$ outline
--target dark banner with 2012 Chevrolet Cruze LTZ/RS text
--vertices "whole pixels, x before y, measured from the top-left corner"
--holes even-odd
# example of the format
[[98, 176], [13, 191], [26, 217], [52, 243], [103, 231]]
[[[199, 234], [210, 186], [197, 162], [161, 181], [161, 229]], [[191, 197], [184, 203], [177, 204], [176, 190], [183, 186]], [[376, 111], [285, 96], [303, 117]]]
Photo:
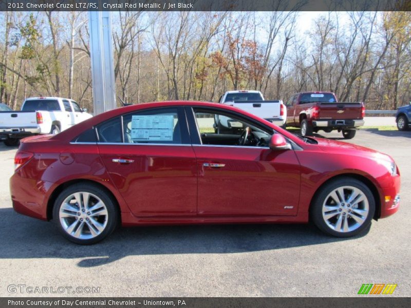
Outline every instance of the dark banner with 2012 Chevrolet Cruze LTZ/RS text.
[[411, 0], [3, 0], [1, 11], [410, 11]]

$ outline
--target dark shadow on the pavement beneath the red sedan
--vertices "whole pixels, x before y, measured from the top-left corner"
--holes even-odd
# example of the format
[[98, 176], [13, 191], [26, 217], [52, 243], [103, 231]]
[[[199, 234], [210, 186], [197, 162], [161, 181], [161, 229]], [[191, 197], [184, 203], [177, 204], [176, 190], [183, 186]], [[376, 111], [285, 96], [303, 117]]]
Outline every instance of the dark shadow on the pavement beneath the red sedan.
[[102, 242], [82, 246], [64, 239], [52, 222], [0, 209], [1, 259], [81, 259], [99, 266], [127, 256], [233, 254], [354, 240], [321, 233], [311, 224], [231, 224], [118, 228]]

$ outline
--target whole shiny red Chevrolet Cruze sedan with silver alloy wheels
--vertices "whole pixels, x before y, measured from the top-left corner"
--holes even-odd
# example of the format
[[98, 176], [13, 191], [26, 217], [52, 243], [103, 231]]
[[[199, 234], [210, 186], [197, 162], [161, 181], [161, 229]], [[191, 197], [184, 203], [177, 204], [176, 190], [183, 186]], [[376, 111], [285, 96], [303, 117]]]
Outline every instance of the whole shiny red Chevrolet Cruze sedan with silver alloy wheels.
[[[216, 121], [227, 117], [229, 130]], [[298, 137], [230, 106], [161, 102], [22, 141], [14, 209], [96, 243], [123, 226], [304, 223], [349, 237], [399, 206], [399, 170], [356, 145]]]

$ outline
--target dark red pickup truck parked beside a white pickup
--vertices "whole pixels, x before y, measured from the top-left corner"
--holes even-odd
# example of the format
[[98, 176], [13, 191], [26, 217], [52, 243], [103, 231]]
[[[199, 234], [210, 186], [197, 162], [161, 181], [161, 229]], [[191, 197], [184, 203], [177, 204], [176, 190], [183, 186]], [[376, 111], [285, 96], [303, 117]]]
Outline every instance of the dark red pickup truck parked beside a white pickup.
[[337, 129], [345, 139], [351, 139], [357, 127], [364, 125], [364, 104], [338, 102], [332, 92], [295, 93], [286, 106], [286, 125], [300, 127], [303, 136]]

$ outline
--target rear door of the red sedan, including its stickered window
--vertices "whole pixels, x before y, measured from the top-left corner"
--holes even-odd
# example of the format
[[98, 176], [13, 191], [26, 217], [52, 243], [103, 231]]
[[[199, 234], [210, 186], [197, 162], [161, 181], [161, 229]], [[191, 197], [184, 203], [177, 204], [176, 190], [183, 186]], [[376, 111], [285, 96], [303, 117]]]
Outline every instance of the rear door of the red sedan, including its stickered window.
[[97, 131], [110, 179], [135, 216], [196, 216], [197, 166], [183, 108], [128, 113]]

